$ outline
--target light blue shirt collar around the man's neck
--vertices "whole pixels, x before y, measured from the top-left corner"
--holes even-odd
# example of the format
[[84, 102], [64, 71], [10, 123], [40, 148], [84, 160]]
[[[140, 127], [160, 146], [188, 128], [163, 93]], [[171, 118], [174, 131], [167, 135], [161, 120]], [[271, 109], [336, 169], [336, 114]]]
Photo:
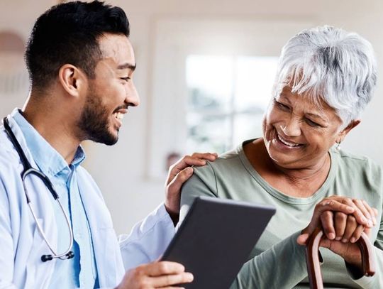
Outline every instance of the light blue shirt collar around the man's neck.
[[[41, 136], [40, 133], [28, 123], [19, 109], [15, 109], [11, 116], [23, 132], [23, 136], [26, 139], [26, 145], [33, 156], [33, 160], [35, 160], [38, 168], [40, 168], [45, 175], [54, 176], [57, 175], [57, 173], [60, 173], [61, 170], [68, 168], [65, 159], [62, 158], [60, 153], [50, 146], [50, 143], [45, 141], [45, 138], [43, 138], [43, 136]], [[84, 159], [84, 150], [79, 146], [74, 155], [72, 165], [77, 168]]]

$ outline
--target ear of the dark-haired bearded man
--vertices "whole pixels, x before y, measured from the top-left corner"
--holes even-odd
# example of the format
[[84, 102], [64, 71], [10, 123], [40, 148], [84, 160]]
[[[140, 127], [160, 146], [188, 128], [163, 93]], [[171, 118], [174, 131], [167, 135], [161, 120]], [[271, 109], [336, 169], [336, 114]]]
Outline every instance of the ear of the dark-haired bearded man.
[[58, 77], [62, 88], [73, 97], [78, 97], [87, 83], [87, 77], [84, 75], [84, 72], [70, 64], [60, 67]]

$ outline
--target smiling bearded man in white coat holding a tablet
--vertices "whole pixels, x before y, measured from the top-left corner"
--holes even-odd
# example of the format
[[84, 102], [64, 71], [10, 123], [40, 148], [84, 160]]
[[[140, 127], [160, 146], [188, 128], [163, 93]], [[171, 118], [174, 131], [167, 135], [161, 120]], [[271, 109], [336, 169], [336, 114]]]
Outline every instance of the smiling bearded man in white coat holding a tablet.
[[80, 143], [116, 143], [123, 115], [139, 104], [128, 36], [126, 14], [98, 1], [60, 4], [36, 21], [26, 48], [30, 96], [0, 127], [0, 288], [191, 282], [182, 265], [154, 260], [174, 234], [189, 165], [216, 155], [187, 156], [170, 169], [165, 205], [121, 242], [124, 260], [101, 193], [80, 165]]

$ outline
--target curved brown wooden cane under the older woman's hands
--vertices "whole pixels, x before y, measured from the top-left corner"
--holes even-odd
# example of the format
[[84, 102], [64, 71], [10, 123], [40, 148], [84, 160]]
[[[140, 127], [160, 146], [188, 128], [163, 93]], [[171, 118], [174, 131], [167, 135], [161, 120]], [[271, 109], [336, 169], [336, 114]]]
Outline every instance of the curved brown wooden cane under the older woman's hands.
[[[323, 279], [321, 266], [319, 262], [319, 243], [321, 242], [323, 231], [316, 228], [309, 237], [306, 244], [306, 263], [307, 273], [309, 273], [309, 281], [311, 289], [323, 289]], [[373, 276], [375, 273], [374, 251], [370, 239], [365, 233], [357, 240], [357, 245], [362, 254], [362, 266], [365, 276]]]

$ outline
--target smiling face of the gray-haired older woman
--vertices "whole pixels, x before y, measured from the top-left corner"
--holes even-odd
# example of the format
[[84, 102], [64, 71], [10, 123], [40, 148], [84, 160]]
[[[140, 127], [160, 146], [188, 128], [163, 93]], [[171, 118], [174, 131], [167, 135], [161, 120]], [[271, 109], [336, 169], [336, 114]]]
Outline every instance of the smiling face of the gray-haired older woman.
[[274, 163], [282, 168], [311, 168], [321, 164], [335, 141], [345, 136], [342, 121], [325, 102], [321, 107], [309, 97], [284, 87], [267, 110], [263, 136]]

